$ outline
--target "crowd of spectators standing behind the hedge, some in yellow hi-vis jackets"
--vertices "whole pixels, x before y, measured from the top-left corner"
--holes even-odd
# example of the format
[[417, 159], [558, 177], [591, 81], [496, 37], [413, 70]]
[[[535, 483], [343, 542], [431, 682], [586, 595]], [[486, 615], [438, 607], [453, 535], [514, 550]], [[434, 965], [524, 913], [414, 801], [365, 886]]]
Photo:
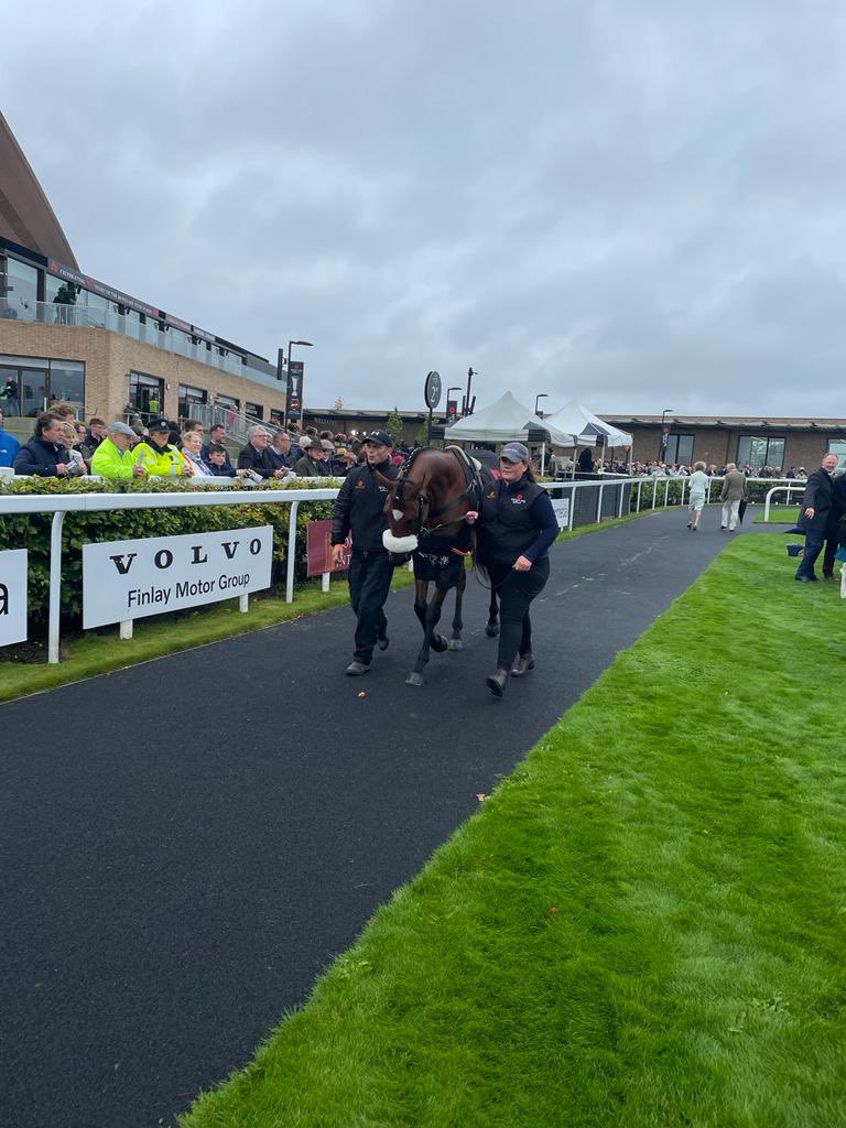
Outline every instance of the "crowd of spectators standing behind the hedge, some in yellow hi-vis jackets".
[[[235, 464], [230, 446], [221, 424], [213, 425], [208, 435], [196, 420], [186, 420], [179, 426], [164, 416], [146, 425], [138, 418], [132, 423], [106, 423], [95, 416], [86, 426], [77, 420], [71, 405], [61, 403], [36, 418], [35, 433], [21, 444], [5, 430], [0, 408], [0, 467], [12, 467], [15, 474], [21, 475], [150, 475], [258, 483], [268, 478], [344, 477], [367, 460], [359, 440], [311, 426], [284, 430], [256, 424], [247, 431], [247, 441]], [[408, 450], [399, 444], [395, 460], [402, 462]]]

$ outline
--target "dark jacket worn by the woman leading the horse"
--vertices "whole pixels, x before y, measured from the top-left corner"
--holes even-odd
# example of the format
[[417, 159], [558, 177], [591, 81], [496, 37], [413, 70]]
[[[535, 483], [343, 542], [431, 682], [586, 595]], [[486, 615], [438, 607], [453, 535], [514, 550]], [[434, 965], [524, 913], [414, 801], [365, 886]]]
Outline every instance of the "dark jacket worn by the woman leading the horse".
[[527, 477], [485, 485], [479, 549], [487, 567], [509, 569], [518, 556], [540, 559], [557, 536], [558, 521], [543, 486]]

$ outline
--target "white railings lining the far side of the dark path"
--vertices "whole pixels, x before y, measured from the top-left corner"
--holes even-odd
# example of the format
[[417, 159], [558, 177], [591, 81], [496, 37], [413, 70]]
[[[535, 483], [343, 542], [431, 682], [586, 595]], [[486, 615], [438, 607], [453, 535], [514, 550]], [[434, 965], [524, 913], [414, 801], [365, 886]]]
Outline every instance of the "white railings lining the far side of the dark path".
[[[195, 479], [197, 482], [208, 483], [208, 478]], [[717, 478], [712, 478], [708, 486], [708, 501], [711, 501], [711, 485], [716, 483]], [[763, 481], [763, 479], [757, 479]], [[591, 523], [591, 521], [601, 522], [602, 520], [610, 520], [614, 517], [623, 517], [624, 513], [628, 513], [631, 510], [640, 512], [641, 500], [643, 494], [644, 484], [651, 483], [653, 488], [652, 494], [652, 505], [651, 509], [658, 506], [658, 499], [660, 494], [660, 486], [663, 484], [663, 502], [662, 508], [667, 506], [670, 499], [670, 486], [673, 482], [681, 485], [681, 499], [680, 504], [685, 504], [685, 491], [687, 486], [686, 478], [658, 478], [658, 477], [643, 477], [643, 478], [619, 478], [619, 477], [608, 477], [608, 478], [596, 478], [588, 482], [579, 481], [564, 481], [564, 482], [548, 482], [545, 483], [545, 487], [549, 491], [553, 496], [556, 494], [564, 494], [570, 499], [569, 517], [567, 517], [567, 528], [573, 529], [575, 517], [576, 517], [576, 500], [579, 499], [580, 492], [593, 490], [596, 491], [597, 502], [596, 510], [593, 514], [587, 511], [585, 506], [582, 505], [580, 511], [579, 525]], [[222, 483], [217, 483], [222, 485]], [[637, 493], [634, 499], [634, 504], [632, 504], [632, 491], [637, 487]], [[766, 506], [765, 506], [765, 520], [769, 514], [769, 504], [773, 494], [778, 490], [800, 490], [804, 487], [804, 483], [779, 483], [775, 485], [767, 494]], [[614, 511], [610, 513], [603, 513], [603, 500], [607, 497], [611, 491], [616, 491], [616, 496], [614, 500]], [[296, 576], [296, 563], [297, 563], [297, 513], [301, 502], [309, 501], [332, 501], [338, 494], [337, 488], [334, 487], [311, 487], [305, 486], [302, 490], [261, 490], [258, 487], [252, 488], [249, 491], [235, 491], [230, 492], [227, 490], [221, 490], [221, 492], [214, 491], [202, 491], [197, 493], [166, 493], [166, 494], [155, 494], [155, 493], [125, 493], [125, 494], [0, 494], [0, 515], [3, 514], [20, 514], [20, 513], [52, 513], [53, 522], [51, 528], [50, 538], [50, 608], [49, 608], [49, 643], [47, 643], [47, 661], [55, 663], [59, 661], [59, 618], [60, 618], [60, 606], [61, 606], [61, 584], [62, 584], [62, 526], [64, 523], [65, 513], [94, 513], [94, 512], [113, 512], [120, 510], [132, 510], [132, 509], [188, 509], [188, 508], [203, 508], [206, 505], [255, 505], [258, 504], [272, 504], [272, 505], [290, 505], [289, 523], [288, 523], [288, 555], [287, 555], [287, 573], [285, 573], [285, 600], [290, 603], [293, 601], [293, 589], [294, 589], [294, 576]], [[592, 508], [592, 506], [591, 506]], [[582, 520], [587, 518], [587, 520]], [[324, 583], [324, 590], [327, 590], [327, 585]], [[246, 610], [245, 601], [248, 599], [247, 596], [240, 597], [241, 609]], [[129, 625], [131, 620], [127, 620], [127, 625], [122, 624], [121, 636], [131, 636], [131, 626]]]

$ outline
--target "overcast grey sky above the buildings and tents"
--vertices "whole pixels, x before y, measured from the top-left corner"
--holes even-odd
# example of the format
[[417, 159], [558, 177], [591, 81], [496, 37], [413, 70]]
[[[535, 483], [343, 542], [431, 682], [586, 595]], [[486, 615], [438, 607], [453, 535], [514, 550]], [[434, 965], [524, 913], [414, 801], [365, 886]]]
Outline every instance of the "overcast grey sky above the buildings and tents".
[[0, 91], [82, 270], [307, 406], [844, 415], [844, 12], [16, 5]]

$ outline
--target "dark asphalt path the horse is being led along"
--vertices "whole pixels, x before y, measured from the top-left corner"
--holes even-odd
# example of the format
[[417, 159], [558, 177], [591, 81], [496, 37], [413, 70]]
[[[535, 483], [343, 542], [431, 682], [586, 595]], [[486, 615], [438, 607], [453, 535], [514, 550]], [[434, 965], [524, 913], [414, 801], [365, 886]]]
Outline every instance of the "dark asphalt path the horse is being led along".
[[[502, 700], [411, 589], [364, 678], [347, 607], [0, 706], [0, 1125], [171, 1125], [726, 544], [676, 510], [555, 547]], [[451, 616], [451, 597], [448, 601]], [[127, 643], [127, 647], [131, 643]]]

